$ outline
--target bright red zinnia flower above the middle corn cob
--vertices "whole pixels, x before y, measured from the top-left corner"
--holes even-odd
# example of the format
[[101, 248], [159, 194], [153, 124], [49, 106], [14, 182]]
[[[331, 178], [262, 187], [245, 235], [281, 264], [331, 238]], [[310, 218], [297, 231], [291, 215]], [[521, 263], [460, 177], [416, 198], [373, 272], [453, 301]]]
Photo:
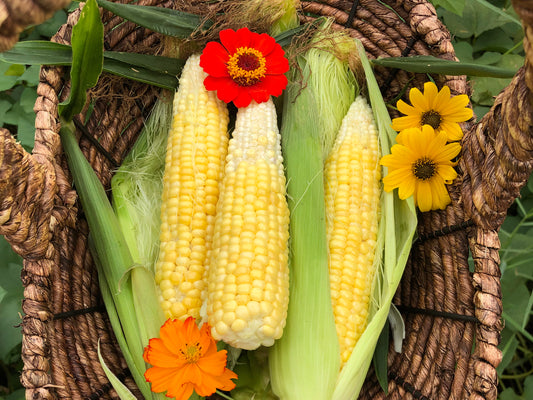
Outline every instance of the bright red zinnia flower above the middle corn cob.
[[207, 90], [216, 90], [220, 100], [246, 107], [279, 96], [287, 86], [289, 62], [273, 37], [248, 28], [220, 32], [220, 42], [209, 42], [200, 57], [208, 74]]

